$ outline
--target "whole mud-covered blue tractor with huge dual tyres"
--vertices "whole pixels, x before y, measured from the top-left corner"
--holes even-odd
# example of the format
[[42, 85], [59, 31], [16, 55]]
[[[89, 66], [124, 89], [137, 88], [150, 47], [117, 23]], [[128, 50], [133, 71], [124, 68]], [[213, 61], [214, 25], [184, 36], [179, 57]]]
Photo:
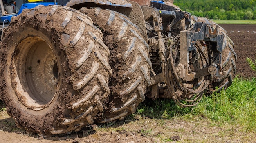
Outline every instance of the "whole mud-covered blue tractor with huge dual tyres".
[[0, 99], [19, 128], [42, 137], [123, 120], [145, 98], [195, 106], [236, 73], [227, 32], [173, 0], [0, 5]]

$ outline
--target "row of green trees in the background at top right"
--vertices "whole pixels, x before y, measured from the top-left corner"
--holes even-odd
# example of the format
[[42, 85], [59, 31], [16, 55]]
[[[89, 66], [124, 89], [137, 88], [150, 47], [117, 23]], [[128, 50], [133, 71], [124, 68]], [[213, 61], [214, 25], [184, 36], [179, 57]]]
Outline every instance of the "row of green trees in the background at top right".
[[220, 20], [256, 20], [256, 0], [174, 0], [192, 15]]

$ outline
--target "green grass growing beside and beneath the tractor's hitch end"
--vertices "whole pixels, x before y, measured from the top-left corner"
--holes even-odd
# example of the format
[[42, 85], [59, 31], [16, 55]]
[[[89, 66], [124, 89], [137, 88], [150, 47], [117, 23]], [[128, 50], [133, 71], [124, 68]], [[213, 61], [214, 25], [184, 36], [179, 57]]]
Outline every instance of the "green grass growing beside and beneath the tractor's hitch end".
[[236, 77], [227, 90], [204, 96], [192, 108], [180, 108], [172, 100], [157, 99], [139, 106], [137, 113], [156, 119], [207, 118], [212, 124], [237, 125], [245, 132], [256, 132], [256, 78]]

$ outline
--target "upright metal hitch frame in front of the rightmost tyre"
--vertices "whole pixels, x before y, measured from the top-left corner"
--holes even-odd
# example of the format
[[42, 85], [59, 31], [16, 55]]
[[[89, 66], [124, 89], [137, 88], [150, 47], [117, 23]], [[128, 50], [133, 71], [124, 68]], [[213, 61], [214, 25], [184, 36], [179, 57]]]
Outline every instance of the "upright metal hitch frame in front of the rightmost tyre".
[[[186, 81], [192, 81], [196, 78], [195, 72], [189, 71], [189, 52], [196, 49], [196, 41], [206, 41], [207, 48], [213, 52], [222, 53], [222, 43], [224, 40], [224, 35], [218, 34], [219, 26], [213, 28], [213, 24], [196, 22], [192, 30], [184, 30], [180, 32], [180, 61], [178, 62], [177, 69], [180, 72], [180, 78]], [[220, 57], [221, 58], [221, 57]], [[206, 70], [209, 74], [217, 74], [216, 65], [221, 63], [213, 63]], [[213, 69], [215, 72], [213, 72]], [[202, 72], [202, 71], [201, 71]], [[201, 73], [200, 71], [198, 73]]]

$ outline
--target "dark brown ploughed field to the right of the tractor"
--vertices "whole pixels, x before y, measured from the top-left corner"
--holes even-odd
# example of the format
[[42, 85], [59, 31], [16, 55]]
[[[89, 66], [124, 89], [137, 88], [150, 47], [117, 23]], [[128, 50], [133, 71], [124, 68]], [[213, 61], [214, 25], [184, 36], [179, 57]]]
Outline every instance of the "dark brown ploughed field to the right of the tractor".
[[248, 65], [246, 58], [252, 58], [253, 61], [256, 58], [256, 25], [220, 24], [220, 26], [227, 31], [234, 42], [234, 50], [237, 54], [236, 74], [242, 78], [255, 77], [256, 73]]

